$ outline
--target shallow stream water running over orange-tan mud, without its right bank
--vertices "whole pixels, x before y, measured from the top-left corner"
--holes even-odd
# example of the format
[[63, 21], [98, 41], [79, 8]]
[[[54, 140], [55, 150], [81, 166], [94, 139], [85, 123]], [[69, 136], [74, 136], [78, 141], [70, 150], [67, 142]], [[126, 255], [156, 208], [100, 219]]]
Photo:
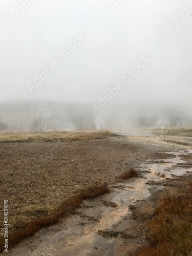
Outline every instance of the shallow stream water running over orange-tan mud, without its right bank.
[[[38, 232], [35, 237], [20, 243], [7, 254], [20, 256], [114, 255], [116, 238], [125, 231], [121, 221], [132, 213], [129, 206], [133, 207], [137, 200], [149, 197], [152, 187], [162, 189], [161, 185], [156, 184], [158, 181], [173, 178], [175, 175], [181, 176], [191, 171], [192, 168], [174, 166], [184, 163], [180, 155], [188, 153], [192, 153], [192, 150], [167, 153], [175, 154], [176, 157], [158, 159], [158, 163], [143, 162], [138, 169], [142, 178], [115, 184], [112, 186], [112, 193], [92, 201], [84, 201], [75, 215], [63, 219], [63, 223]], [[114, 231], [115, 226], [118, 226], [118, 231]]]

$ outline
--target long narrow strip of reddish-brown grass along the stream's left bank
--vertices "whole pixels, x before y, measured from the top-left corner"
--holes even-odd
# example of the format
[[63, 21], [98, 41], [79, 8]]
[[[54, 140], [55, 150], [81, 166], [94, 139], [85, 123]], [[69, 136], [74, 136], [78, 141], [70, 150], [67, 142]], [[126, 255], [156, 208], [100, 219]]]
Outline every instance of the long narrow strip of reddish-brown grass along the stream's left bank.
[[[56, 210], [54, 210], [51, 216], [34, 219], [26, 223], [23, 228], [19, 228], [8, 234], [9, 248], [16, 245], [18, 242], [33, 236], [41, 228], [45, 228], [56, 224], [62, 217], [74, 214], [76, 208], [82, 204], [84, 199], [91, 199], [97, 196], [101, 196], [105, 193], [109, 193], [109, 188], [106, 184], [89, 186], [81, 191], [78, 196], [71, 197], [61, 203]], [[0, 252], [4, 250], [4, 236], [0, 237]]]

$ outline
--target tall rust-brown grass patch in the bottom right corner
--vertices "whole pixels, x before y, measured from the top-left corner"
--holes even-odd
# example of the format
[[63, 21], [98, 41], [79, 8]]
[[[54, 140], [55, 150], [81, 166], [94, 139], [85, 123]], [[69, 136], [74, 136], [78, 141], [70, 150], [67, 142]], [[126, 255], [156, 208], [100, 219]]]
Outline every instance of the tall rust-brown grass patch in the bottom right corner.
[[192, 183], [185, 195], [164, 198], [148, 223], [150, 247], [136, 255], [192, 255]]

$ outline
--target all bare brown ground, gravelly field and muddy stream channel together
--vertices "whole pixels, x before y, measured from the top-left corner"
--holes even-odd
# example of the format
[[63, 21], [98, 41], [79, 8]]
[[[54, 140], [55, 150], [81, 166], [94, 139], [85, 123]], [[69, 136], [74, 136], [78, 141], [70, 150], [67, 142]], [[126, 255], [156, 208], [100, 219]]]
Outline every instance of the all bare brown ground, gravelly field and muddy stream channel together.
[[[153, 215], [160, 189], [177, 193], [191, 179], [191, 142], [192, 138], [159, 135], [1, 143], [1, 198], [9, 201], [12, 229], [20, 225], [17, 220], [34, 218], [34, 213], [39, 214], [36, 218], [49, 214], [84, 186], [106, 182], [111, 188], [110, 194], [85, 201], [76, 215], [40, 231], [9, 254], [131, 255], [147, 244], [145, 223]], [[172, 154], [162, 154], [166, 152]], [[141, 177], [117, 184], [116, 176], [131, 167]], [[170, 182], [185, 173], [187, 178]], [[35, 211], [39, 207], [47, 210]]]

